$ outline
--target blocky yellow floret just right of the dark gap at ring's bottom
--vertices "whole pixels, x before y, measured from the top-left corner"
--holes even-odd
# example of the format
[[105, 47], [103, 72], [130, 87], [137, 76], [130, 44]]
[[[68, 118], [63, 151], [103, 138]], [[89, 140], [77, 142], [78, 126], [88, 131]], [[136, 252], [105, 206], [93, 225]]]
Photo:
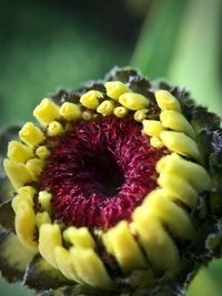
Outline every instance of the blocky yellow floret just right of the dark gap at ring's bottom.
[[111, 244], [113, 255], [124, 273], [148, 266], [127, 222], [122, 221], [109, 229], [107, 236]]

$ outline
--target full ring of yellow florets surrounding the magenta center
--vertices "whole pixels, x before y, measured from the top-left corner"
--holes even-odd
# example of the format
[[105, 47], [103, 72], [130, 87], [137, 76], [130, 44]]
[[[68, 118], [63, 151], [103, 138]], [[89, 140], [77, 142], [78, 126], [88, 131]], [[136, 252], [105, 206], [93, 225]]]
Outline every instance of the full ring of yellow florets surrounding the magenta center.
[[[148, 98], [132, 92], [120, 81], [105, 82], [104, 86], [105, 93], [90, 90], [82, 94], [80, 104], [64, 102], [59, 106], [50, 99], [43, 99], [33, 111], [42, 127], [31, 122], [23, 125], [19, 132], [21, 141], [9, 143], [4, 170], [17, 192], [12, 208], [20, 242], [33, 253], [39, 252], [67, 278], [112, 288], [112, 278], [97, 252], [90, 231], [74, 226], [64, 228], [53, 223], [52, 194], [36, 188], [34, 184], [51, 153], [46, 139], [61, 136], [70, 123], [90, 120], [94, 114], [113, 114], [122, 119], [131, 112], [134, 120], [141, 122], [144, 136], [151, 137], [151, 145], [155, 149], [165, 146], [170, 151], [157, 164], [159, 187], [144, 197], [132, 214], [132, 222], [121, 221], [107, 232], [98, 229], [94, 233], [123, 274], [145, 269], [150, 265], [154, 273], [173, 275], [178, 272], [180, 254], [170, 233], [188, 241], [195, 235], [192, 220], [178, 201], [194, 210], [199, 193], [210, 190], [211, 178], [202, 166], [195, 132], [182, 114], [176, 98], [168, 91], [157, 91], [160, 119], [147, 120]], [[40, 205], [38, 212], [34, 198]]]

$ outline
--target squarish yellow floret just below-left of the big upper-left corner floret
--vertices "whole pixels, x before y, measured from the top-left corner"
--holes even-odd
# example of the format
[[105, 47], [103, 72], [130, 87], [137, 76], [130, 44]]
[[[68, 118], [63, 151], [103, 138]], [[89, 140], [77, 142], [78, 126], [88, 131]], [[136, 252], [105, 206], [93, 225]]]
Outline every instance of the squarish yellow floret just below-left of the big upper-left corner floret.
[[44, 134], [32, 122], [27, 122], [19, 132], [21, 141], [29, 146], [38, 146], [44, 141]]

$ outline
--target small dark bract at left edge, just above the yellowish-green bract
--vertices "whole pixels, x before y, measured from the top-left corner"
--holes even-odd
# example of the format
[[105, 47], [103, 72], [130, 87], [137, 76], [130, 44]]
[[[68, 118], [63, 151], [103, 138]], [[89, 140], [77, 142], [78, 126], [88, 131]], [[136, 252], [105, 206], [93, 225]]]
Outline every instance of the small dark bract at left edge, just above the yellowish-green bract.
[[14, 231], [14, 212], [11, 207], [11, 201], [6, 201], [0, 205], [0, 226], [9, 232]]

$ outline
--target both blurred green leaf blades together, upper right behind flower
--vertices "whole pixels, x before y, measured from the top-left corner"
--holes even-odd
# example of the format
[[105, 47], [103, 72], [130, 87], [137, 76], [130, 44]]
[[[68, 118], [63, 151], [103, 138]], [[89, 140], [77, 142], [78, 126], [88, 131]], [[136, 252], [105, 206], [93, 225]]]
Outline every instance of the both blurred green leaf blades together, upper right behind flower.
[[221, 0], [152, 0], [131, 64], [222, 115]]

